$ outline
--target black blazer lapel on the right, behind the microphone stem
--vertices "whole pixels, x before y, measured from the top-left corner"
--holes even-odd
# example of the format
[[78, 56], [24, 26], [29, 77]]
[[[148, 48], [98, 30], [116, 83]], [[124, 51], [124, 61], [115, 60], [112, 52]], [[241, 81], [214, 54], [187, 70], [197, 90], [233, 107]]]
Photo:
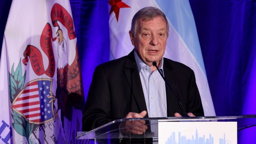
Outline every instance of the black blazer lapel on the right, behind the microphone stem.
[[[175, 83], [175, 82], [178, 82], [178, 79], [175, 76], [175, 73], [173, 72], [173, 67], [171, 66], [170, 63], [168, 63], [168, 61], [165, 60], [165, 58], [164, 58], [164, 77], [166, 78], [166, 81], [169, 83], [175, 95], [178, 97], [178, 93], [177, 93], [178, 83]], [[178, 107], [175, 96], [168, 89], [167, 85], [165, 85], [165, 87], [166, 87], [167, 116], [173, 117], [174, 113], [179, 112], [179, 107]]]

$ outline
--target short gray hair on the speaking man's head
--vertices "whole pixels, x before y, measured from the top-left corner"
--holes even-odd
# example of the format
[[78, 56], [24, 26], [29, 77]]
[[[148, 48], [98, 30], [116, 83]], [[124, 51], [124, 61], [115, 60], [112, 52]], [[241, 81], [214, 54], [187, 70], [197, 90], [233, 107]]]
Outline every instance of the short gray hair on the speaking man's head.
[[143, 9], [140, 9], [134, 16], [132, 20], [132, 26], [130, 30], [132, 33], [135, 35], [136, 33], [136, 26], [137, 26], [137, 21], [149, 21], [154, 19], [155, 17], [162, 17], [166, 23], [166, 28], [167, 28], [167, 36], [169, 35], [169, 24], [168, 20], [166, 19], [166, 16], [164, 12], [162, 12], [160, 9], [156, 7], [144, 7]]

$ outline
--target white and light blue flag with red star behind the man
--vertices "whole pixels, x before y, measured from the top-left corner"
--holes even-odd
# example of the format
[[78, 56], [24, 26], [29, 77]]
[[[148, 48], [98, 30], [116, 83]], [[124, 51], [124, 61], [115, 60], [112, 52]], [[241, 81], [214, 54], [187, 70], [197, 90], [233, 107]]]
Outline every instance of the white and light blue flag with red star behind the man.
[[205, 116], [215, 116], [194, 17], [188, 0], [109, 0], [110, 59], [131, 52], [128, 31], [134, 14], [157, 7], [168, 19], [169, 36], [164, 57], [189, 66], [195, 73]]

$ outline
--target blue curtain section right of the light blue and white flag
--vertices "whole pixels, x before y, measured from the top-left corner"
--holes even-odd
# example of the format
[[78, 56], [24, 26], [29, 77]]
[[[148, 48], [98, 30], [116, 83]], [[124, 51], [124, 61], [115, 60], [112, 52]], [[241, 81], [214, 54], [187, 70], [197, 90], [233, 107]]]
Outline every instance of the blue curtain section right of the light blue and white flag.
[[[216, 116], [256, 114], [256, 1], [190, 0], [190, 5]], [[256, 143], [255, 134], [256, 127], [237, 132], [238, 143]]]

